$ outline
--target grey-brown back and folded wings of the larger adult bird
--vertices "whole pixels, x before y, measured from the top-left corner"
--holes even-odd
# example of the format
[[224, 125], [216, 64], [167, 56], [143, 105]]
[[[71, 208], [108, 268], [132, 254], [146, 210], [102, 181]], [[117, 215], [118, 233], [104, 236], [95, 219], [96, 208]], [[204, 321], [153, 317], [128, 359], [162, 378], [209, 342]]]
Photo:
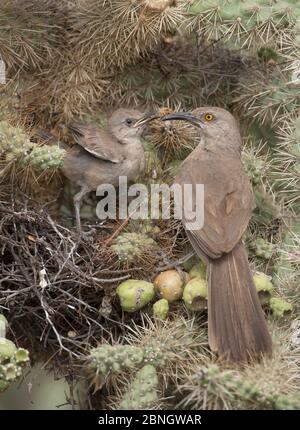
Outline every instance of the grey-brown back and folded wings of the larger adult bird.
[[[175, 183], [192, 184], [193, 210], [195, 185], [204, 185], [204, 225], [187, 230], [187, 234], [199, 256], [219, 258], [240, 241], [255, 207], [254, 197], [240, 159], [224, 154], [206, 155], [205, 151], [202, 155], [185, 160]], [[185, 227], [188, 222], [183, 216]]]

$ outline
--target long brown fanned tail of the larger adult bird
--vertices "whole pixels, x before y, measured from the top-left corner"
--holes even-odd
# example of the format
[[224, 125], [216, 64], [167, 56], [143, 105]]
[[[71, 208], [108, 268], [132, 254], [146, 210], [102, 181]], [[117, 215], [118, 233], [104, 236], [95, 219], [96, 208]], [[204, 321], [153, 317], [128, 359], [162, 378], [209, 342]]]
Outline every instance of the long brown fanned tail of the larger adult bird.
[[233, 362], [271, 355], [272, 341], [242, 243], [210, 260], [209, 344]]

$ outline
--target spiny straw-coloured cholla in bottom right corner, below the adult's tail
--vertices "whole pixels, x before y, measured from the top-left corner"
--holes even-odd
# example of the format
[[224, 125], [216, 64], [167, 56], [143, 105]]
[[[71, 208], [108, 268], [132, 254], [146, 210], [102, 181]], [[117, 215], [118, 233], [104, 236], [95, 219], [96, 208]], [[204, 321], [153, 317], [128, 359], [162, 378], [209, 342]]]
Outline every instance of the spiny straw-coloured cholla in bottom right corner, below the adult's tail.
[[[224, 363], [196, 365], [178, 387], [179, 407], [202, 409], [298, 409], [299, 350], [295, 329], [272, 329], [269, 359], [228, 368]], [[294, 343], [295, 340], [295, 343]], [[295, 347], [296, 346], [296, 347]]]

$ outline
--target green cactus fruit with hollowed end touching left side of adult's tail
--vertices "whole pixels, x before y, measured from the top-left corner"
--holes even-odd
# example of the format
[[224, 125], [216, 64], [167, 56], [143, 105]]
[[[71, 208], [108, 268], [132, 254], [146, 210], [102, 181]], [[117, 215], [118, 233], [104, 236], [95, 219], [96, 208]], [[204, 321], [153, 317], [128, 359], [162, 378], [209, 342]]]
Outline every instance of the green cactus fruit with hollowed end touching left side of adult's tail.
[[200, 311], [207, 308], [207, 281], [201, 278], [191, 279], [183, 290], [183, 301], [186, 307], [192, 311]]

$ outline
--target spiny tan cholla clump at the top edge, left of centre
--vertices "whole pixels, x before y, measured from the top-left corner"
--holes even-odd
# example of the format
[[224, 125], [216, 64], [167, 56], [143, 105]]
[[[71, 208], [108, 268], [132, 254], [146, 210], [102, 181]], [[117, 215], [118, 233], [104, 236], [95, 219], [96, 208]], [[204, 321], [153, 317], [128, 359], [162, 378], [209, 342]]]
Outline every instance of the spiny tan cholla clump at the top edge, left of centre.
[[106, 72], [132, 63], [184, 20], [187, 1], [87, 0], [70, 14], [80, 58]]

